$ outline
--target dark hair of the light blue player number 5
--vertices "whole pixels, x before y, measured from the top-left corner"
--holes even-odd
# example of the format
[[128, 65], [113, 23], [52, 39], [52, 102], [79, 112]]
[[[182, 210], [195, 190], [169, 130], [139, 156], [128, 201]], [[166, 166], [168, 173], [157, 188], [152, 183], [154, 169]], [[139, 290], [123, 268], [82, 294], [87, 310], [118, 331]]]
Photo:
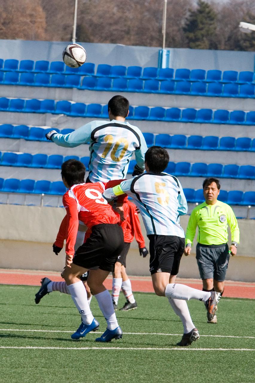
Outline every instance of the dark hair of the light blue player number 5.
[[144, 161], [150, 172], [162, 173], [168, 165], [169, 155], [161, 146], [151, 146], [145, 153]]

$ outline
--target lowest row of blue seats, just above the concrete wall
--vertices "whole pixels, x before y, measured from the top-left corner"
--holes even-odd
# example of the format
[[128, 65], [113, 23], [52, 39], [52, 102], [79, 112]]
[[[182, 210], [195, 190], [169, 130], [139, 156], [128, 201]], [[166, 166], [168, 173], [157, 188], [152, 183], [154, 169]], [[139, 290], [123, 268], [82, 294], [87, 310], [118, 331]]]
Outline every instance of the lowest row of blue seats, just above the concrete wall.
[[[0, 178], [0, 191], [7, 193], [34, 193], [34, 194], [50, 194], [63, 195], [66, 188], [62, 181], [50, 182], [47, 180], [19, 180], [17, 178]], [[194, 190], [191, 188], [183, 189], [187, 202], [202, 203], [204, 201], [203, 189]], [[230, 205], [255, 205], [255, 191], [232, 190], [227, 192], [221, 190], [219, 201], [226, 202]]]

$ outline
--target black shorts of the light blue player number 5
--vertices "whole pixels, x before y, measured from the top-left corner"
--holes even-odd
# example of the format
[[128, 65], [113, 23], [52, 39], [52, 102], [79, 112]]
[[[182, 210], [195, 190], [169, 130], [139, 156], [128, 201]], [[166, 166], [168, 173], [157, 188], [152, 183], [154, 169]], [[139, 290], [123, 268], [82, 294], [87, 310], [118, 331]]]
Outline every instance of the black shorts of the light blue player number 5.
[[181, 256], [185, 247], [185, 238], [149, 234], [150, 273], [170, 273], [177, 275]]

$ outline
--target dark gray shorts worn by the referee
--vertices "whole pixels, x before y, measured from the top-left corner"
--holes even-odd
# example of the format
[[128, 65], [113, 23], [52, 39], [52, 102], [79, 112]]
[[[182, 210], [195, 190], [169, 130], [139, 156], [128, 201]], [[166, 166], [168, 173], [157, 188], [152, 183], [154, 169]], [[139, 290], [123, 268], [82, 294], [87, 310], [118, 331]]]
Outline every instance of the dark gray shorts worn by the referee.
[[223, 245], [196, 245], [196, 261], [201, 279], [213, 278], [223, 282], [229, 265], [229, 247]]

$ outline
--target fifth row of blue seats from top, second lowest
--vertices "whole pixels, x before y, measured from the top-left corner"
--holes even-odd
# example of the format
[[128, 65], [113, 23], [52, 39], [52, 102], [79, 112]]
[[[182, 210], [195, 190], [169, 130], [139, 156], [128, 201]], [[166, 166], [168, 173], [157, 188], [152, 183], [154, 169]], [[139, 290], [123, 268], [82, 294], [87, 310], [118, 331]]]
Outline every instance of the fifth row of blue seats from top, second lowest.
[[[88, 169], [90, 157], [78, 156], [63, 156], [60, 154], [30, 154], [30, 153], [12, 153], [4, 152], [1, 154], [0, 165], [3, 166], [19, 166], [19, 167], [34, 167], [46, 169], [60, 169], [64, 161], [75, 158], [83, 162]], [[128, 173], [131, 174], [134, 169], [136, 160], [131, 160], [128, 168]], [[255, 166], [252, 165], [222, 165], [222, 164], [206, 164], [204, 162], [169, 162], [167, 173], [176, 176], [188, 177], [223, 177], [223, 178], [238, 178], [255, 180]]]

